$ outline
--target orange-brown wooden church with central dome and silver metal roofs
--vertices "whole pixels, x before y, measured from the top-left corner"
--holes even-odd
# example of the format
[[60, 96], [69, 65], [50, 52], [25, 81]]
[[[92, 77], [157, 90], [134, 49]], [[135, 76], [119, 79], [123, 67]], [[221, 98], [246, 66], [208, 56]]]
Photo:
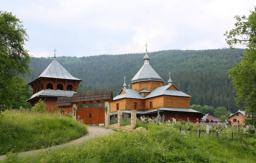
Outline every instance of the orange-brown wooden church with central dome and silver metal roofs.
[[[165, 116], [166, 120], [175, 118], [177, 121], [196, 122], [204, 114], [190, 109], [190, 97], [181, 92], [172, 84], [171, 73], [169, 72], [168, 85], [163, 86], [163, 79], [149, 64], [149, 56], [146, 54], [143, 58], [144, 65], [137, 74], [131, 79], [131, 86], [124, 81], [123, 88], [118, 96], [111, 102], [111, 116], [116, 115], [118, 110], [124, 110], [124, 113], [131, 113], [131, 110], [137, 110], [137, 117], [145, 115], [148, 117], [157, 117], [157, 110], [160, 115]], [[125, 78], [124, 78], [125, 79]]]

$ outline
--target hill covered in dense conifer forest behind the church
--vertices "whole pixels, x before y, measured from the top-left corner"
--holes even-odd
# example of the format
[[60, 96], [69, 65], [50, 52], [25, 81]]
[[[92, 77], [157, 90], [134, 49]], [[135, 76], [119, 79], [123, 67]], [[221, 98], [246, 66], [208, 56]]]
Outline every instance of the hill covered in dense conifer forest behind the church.
[[[227, 70], [241, 60], [244, 49], [214, 50], [169, 50], [148, 53], [150, 65], [167, 84], [169, 71], [173, 84], [182, 92], [192, 96], [190, 104], [224, 106], [234, 112], [238, 110], [233, 97], [233, 87], [228, 79]], [[57, 54], [58, 55], [58, 54]], [[145, 53], [120, 55], [99, 55], [87, 57], [57, 57], [73, 76], [82, 79], [83, 89], [112, 90], [116, 96], [123, 85], [131, 84], [131, 79], [143, 65]], [[36, 79], [52, 62], [53, 57], [33, 58], [30, 68]]]

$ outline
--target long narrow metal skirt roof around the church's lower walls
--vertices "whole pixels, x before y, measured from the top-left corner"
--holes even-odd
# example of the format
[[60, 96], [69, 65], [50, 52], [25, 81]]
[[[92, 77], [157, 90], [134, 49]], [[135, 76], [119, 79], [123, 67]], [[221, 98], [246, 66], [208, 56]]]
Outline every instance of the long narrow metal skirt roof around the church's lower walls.
[[[162, 107], [159, 108], [159, 111], [163, 112], [163, 111], [176, 111], [176, 112], [197, 112], [197, 113], [201, 113], [198, 112], [197, 110], [193, 110], [193, 109], [188, 109], [188, 108], [176, 108], [176, 107]], [[136, 111], [136, 114], [138, 115], [143, 115], [143, 114], [149, 114], [152, 112], [157, 112], [157, 109], [153, 109], [153, 110], [145, 110], [145, 111]], [[124, 110], [123, 113], [131, 113], [131, 110]], [[109, 115], [116, 115], [117, 112], [111, 112]], [[201, 113], [202, 115], [204, 115], [203, 113]]]

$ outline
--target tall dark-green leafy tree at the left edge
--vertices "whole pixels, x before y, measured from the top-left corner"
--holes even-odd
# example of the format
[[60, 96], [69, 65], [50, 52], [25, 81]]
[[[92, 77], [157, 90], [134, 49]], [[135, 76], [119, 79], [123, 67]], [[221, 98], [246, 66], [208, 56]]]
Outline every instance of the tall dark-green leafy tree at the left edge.
[[[17, 101], [12, 101], [15, 99], [10, 97], [11, 92], [15, 92], [12, 86], [20, 83], [17, 83], [17, 80], [21, 80], [17, 76], [30, 74], [30, 57], [24, 49], [26, 41], [28, 35], [22, 22], [12, 13], [0, 11], [0, 105], [15, 105], [13, 103]], [[23, 92], [20, 93], [15, 95], [22, 96]]]

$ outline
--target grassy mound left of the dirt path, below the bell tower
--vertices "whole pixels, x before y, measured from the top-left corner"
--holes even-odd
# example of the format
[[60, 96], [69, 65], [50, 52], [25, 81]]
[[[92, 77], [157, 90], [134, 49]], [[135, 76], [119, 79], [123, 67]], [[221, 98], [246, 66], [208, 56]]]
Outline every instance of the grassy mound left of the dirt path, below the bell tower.
[[86, 133], [86, 126], [59, 114], [6, 111], [0, 118], [0, 155], [66, 143]]

